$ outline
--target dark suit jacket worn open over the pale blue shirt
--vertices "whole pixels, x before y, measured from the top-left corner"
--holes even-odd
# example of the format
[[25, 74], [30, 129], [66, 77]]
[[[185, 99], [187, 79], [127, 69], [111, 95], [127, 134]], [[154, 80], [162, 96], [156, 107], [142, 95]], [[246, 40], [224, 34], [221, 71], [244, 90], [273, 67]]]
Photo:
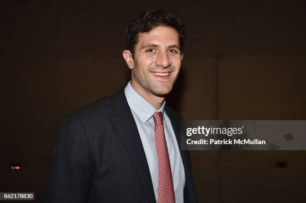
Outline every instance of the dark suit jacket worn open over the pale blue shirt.
[[[165, 106], [176, 139], [181, 117]], [[195, 192], [188, 151], [184, 199]], [[45, 203], [155, 203], [149, 168], [124, 94], [99, 100], [65, 118], [57, 129], [44, 193]]]

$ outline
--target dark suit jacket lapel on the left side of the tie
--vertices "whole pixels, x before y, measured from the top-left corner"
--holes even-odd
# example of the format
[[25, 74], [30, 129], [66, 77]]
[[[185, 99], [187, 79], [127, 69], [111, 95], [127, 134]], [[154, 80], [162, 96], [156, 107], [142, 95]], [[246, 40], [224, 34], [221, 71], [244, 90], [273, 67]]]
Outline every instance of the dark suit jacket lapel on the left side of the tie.
[[150, 171], [136, 123], [126, 101], [124, 88], [113, 96], [115, 123], [122, 141], [131, 157], [150, 203], [156, 203]]

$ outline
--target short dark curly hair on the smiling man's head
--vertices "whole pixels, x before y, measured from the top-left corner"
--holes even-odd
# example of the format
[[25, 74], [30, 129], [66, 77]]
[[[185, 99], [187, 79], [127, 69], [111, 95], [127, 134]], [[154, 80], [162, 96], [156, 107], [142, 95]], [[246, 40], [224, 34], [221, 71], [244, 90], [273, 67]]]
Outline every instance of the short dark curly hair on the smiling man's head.
[[125, 49], [129, 50], [134, 58], [135, 46], [138, 42], [139, 33], [149, 32], [157, 26], [168, 26], [174, 28], [179, 35], [179, 49], [183, 52], [185, 47], [185, 26], [172, 14], [162, 9], [152, 9], [139, 14], [128, 22], [125, 32]]

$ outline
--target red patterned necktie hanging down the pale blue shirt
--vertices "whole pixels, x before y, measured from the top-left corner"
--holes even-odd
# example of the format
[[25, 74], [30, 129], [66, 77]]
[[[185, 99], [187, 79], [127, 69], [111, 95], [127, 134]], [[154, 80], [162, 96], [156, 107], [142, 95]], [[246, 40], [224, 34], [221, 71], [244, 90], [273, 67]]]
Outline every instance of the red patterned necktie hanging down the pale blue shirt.
[[155, 112], [153, 119], [158, 159], [158, 203], [175, 203], [168, 148], [163, 132], [162, 112]]

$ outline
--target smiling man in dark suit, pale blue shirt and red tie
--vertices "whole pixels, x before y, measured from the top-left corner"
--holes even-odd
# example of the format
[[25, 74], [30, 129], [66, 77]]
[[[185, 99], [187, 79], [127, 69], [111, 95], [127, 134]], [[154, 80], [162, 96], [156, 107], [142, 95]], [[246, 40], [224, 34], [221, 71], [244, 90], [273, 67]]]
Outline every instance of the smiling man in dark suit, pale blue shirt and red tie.
[[181, 117], [165, 105], [178, 75], [184, 26], [154, 9], [131, 20], [123, 57], [131, 81], [62, 121], [45, 203], [194, 203]]

